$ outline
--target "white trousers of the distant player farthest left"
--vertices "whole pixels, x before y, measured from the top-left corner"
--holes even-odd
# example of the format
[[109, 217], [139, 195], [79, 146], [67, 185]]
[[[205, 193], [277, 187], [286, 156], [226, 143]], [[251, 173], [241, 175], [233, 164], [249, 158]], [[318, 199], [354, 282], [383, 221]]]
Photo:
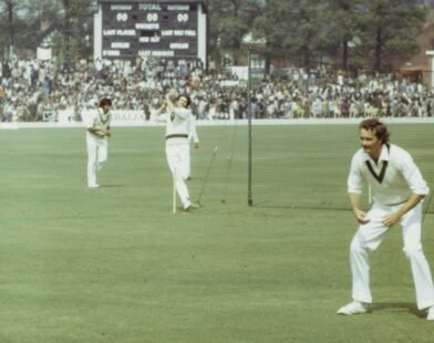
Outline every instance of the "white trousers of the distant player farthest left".
[[91, 133], [86, 135], [87, 143], [87, 186], [96, 184], [96, 172], [101, 170], [107, 160], [107, 139], [94, 137]]

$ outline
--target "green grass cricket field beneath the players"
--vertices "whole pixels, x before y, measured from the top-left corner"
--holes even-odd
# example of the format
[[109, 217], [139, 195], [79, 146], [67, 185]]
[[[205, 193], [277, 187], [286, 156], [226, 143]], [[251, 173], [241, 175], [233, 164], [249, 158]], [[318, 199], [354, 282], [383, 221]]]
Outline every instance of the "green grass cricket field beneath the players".
[[[391, 129], [434, 188], [433, 125]], [[254, 167], [254, 207], [246, 127], [198, 132], [188, 187], [204, 207], [176, 215], [163, 127], [114, 128], [100, 189], [86, 187], [83, 129], [0, 132], [1, 343], [432, 342], [399, 228], [372, 256], [373, 312], [335, 315], [350, 301], [342, 181], [356, 127], [255, 128], [256, 160], [275, 162]]]

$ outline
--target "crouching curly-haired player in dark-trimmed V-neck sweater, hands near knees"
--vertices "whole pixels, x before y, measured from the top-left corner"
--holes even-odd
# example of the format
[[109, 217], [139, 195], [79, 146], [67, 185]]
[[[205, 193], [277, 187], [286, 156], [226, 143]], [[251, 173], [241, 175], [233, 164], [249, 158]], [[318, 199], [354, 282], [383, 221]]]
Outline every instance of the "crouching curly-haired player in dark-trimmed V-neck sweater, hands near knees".
[[[372, 302], [369, 253], [375, 250], [385, 233], [395, 225], [402, 227], [406, 254], [415, 285], [416, 303], [434, 321], [434, 287], [430, 266], [422, 250], [422, 199], [430, 189], [411, 155], [389, 143], [388, 127], [376, 118], [360, 126], [362, 148], [351, 163], [348, 193], [355, 219], [360, 224], [350, 247], [353, 302], [338, 314], [366, 313]], [[372, 207], [360, 208], [363, 185], [372, 187]]]

